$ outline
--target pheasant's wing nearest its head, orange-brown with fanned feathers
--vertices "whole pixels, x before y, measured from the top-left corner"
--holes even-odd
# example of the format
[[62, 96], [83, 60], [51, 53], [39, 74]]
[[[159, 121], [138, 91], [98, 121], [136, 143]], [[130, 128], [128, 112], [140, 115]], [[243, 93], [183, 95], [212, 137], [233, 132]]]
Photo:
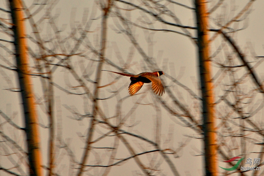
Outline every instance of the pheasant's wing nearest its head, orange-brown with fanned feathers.
[[151, 87], [155, 94], [162, 95], [165, 93], [164, 87], [159, 77], [156, 77], [154, 74], [144, 74], [141, 76], [148, 78], [152, 82]]

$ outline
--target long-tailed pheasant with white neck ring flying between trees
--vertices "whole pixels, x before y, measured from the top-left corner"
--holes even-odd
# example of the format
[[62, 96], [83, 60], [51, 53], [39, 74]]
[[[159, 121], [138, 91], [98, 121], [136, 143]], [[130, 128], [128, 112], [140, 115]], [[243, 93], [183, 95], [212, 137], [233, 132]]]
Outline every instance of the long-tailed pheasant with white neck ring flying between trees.
[[[102, 70], [102, 71], [112, 72], [112, 71], [108, 71], [108, 70]], [[119, 73], [119, 72], [113, 72], [113, 73], [117, 73], [119, 75], [130, 77], [131, 83], [129, 84], [129, 87], [128, 87], [128, 92], [129, 92], [130, 96], [132, 96], [136, 92], [138, 92], [144, 83], [150, 83], [150, 82], [152, 82], [151, 87], [152, 87], [152, 90], [155, 94], [162, 95], [163, 93], [165, 93], [164, 87], [163, 87], [161, 80], [159, 78], [160, 75], [164, 74], [162, 71], [143, 72], [143, 73], [140, 73], [138, 75], [131, 75], [131, 74]]]

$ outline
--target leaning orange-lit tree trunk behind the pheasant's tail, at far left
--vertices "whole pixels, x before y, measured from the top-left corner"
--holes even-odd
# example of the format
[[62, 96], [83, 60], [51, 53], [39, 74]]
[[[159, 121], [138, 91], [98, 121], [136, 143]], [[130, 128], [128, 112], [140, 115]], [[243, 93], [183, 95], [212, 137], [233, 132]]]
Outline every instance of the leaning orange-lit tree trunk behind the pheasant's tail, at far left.
[[17, 73], [25, 116], [29, 172], [32, 176], [40, 176], [43, 174], [41, 169], [42, 157], [40, 152], [38, 117], [35, 107], [32, 81], [29, 75], [29, 61], [27, 56], [27, 43], [22, 2], [21, 0], [9, 0], [9, 3], [13, 21]]

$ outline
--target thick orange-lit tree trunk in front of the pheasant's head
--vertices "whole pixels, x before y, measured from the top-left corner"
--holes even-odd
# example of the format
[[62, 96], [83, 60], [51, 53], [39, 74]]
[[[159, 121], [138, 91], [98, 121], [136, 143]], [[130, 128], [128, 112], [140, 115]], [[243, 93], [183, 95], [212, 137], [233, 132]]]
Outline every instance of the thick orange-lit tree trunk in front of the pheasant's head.
[[209, 58], [208, 12], [206, 0], [195, 0], [197, 37], [199, 50], [199, 71], [202, 90], [205, 172], [207, 176], [217, 175], [217, 148], [214, 116], [213, 83]]

